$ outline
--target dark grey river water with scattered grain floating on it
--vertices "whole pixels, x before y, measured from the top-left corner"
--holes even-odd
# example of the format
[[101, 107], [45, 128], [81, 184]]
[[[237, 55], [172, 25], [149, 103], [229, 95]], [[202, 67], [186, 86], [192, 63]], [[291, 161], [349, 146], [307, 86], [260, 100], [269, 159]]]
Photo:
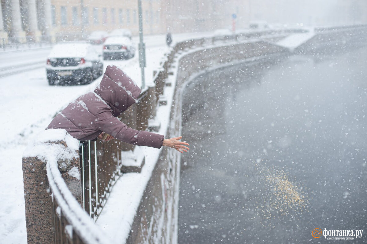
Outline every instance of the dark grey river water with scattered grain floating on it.
[[367, 243], [367, 48], [213, 71], [183, 101], [180, 244]]

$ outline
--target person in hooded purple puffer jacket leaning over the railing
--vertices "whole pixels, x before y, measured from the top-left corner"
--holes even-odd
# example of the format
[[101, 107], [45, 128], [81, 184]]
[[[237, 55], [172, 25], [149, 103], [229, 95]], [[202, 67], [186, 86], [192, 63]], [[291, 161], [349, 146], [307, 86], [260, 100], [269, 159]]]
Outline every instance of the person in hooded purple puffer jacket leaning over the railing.
[[[189, 144], [182, 136], [165, 139], [163, 135], [127, 127], [117, 116], [137, 102], [141, 89], [121, 69], [110, 65], [94, 92], [78, 97], [59, 112], [47, 129], [65, 129], [78, 140], [105, 141], [113, 138], [126, 143], [161, 148], [167, 146], [183, 153]], [[108, 135], [106, 135], [108, 134]]]

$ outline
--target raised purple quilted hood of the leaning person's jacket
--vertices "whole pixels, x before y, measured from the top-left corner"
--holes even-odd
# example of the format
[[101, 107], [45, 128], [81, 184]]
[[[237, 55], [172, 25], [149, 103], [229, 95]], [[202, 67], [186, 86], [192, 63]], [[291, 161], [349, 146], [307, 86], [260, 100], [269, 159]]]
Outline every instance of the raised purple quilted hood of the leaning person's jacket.
[[141, 89], [124, 71], [114, 65], [106, 68], [102, 81], [94, 90], [112, 108], [117, 117], [137, 102]]

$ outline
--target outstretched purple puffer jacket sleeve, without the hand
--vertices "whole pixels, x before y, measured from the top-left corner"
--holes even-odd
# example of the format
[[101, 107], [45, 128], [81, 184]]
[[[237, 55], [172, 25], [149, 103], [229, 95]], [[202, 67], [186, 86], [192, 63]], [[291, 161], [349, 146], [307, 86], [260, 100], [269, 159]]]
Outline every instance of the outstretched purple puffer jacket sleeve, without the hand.
[[95, 126], [97, 129], [133, 145], [161, 148], [163, 144], [163, 135], [129, 128], [114, 117], [111, 112], [106, 111], [99, 114]]

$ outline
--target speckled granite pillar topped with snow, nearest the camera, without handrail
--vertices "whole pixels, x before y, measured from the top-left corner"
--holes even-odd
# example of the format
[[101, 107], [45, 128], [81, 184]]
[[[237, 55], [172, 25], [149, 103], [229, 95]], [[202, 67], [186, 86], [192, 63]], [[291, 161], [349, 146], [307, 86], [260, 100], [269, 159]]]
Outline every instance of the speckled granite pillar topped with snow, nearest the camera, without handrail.
[[[41, 135], [44, 135], [45, 132], [48, 133], [48, 130], [45, 130]], [[55, 141], [35, 140], [31, 142], [22, 159], [28, 243], [54, 243], [55, 226], [52, 216], [54, 204], [46, 172], [47, 159], [44, 159], [47, 156], [42, 155], [39, 147], [46, 148], [46, 151], [50, 147], [52, 152], [57, 151], [55, 148], [59, 148], [58, 144], [65, 147], [65, 155], [73, 155], [73, 158], [70, 159], [54, 156], [61, 176], [70, 192], [79, 204], [82, 202], [79, 150], [73, 151], [74, 149], [70, 149], [66, 139]], [[45, 155], [47, 153], [44, 152]], [[79, 177], [77, 177], [77, 174], [79, 174]]]

